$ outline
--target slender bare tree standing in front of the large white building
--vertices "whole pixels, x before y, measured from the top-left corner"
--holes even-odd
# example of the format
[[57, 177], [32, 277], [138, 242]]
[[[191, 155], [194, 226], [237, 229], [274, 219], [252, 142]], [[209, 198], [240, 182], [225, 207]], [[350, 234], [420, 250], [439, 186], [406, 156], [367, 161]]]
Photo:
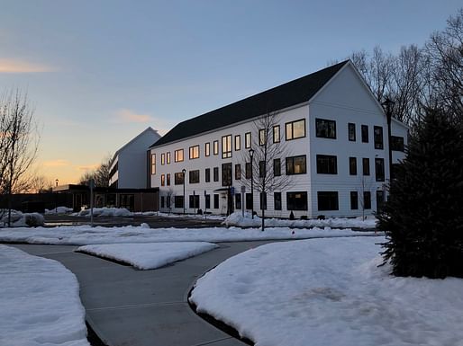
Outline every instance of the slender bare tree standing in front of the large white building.
[[[265, 229], [265, 210], [267, 208], [267, 195], [273, 191], [283, 191], [292, 185], [292, 175], [282, 174], [281, 164], [289, 155], [286, 141], [282, 140], [279, 128], [278, 112], [268, 112], [253, 123], [251, 132], [251, 147], [254, 150], [252, 164], [253, 188], [259, 191], [260, 210], [262, 213], [262, 231]], [[249, 156], [243, 158], [247, 162]], [[241, 172], [244, 184], [251, 188], [249, 175], [246, 170]], [[244, 202], [244, 201], [243, 201]]]

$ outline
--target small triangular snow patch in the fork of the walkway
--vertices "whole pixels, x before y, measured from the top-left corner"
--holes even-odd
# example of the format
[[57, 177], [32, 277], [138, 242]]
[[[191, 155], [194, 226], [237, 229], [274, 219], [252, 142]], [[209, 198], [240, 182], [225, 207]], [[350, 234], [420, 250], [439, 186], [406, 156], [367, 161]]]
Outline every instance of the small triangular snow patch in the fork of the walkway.
[[216, 244], [198, 242], [104, 244], [80, 246], [77, 251], [126, 262], [141, 270], [149, 270], [185, 260], [200, 253], [211, 251], [216, 247], [218, 247]]

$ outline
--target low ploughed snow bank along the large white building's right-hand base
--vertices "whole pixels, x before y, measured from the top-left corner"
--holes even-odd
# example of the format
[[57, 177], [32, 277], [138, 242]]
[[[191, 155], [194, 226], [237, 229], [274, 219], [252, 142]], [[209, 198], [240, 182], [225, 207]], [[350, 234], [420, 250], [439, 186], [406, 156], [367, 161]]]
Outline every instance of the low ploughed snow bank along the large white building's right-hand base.
[[[241, 211], [235, 211], [223, 221], [225, 226], [241, 226], [241, 227], [256, 227], [262, 224], [262, 219], [257, 215], [254, 218], [248, 212], [242, 216]], [[280, 218], [266, 218], [265, 225], [268, 227], [333, 227], [333, 228], [360, 228], [374, 229], [377, 225], [376, 217], [369, 216], [366, 220], [362, 217], [347, 218], [347, 217], [330, 217], [324, 220], [308, 219], [308, 220], [289, 220]]]

